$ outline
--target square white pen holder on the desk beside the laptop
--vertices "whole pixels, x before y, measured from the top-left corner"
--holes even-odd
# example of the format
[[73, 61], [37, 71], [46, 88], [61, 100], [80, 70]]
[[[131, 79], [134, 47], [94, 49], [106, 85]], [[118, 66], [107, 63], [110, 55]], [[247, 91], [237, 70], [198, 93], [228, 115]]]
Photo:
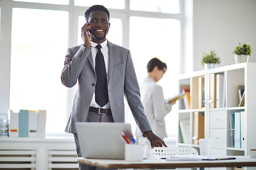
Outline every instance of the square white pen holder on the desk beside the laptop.
[[126, 161], [142, 161], [142, 144], [125, 144], [124, 159]]

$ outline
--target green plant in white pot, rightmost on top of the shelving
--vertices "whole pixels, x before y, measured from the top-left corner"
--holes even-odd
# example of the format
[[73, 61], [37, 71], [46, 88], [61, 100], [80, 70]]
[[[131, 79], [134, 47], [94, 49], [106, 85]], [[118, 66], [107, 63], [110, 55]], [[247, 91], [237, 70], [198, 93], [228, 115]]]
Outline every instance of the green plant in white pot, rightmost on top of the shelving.
[[239, 41], [239, 45], [234, 47], [234, 60], [237, 63], [248, 62], [249, 56], [251, 55], [252, 48], [250, 46], [251, 43], [244, 43], [243, 45]]

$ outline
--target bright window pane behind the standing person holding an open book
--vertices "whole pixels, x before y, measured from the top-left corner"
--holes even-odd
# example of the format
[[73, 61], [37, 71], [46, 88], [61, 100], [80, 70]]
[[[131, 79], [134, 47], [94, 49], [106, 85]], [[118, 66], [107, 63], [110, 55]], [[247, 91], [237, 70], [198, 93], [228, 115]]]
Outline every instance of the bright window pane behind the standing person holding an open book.
[[[180, 20], [131, 16], [129, 46], [139, 83], [147, 76], [147, 62], [157, 57], [167, 65], [167, 72], [158, 82], [163, 87], [165, 99], [177, 93], [178, 74], [174, 73], [179, 70]], [[172, 112], [175, 110], [173, 107]], [[167, 121], [172, 121], [175, 116], [168, 115]], [[167, 134], [174, 133], [175, 128], [172, 124], [166, 124]]]

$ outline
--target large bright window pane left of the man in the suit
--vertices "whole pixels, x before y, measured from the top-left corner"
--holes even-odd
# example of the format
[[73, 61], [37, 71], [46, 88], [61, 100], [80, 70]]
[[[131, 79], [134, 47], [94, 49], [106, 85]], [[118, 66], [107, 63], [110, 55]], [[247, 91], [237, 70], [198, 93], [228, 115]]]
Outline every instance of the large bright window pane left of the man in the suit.
[[46, 133], [63, 132], [67, 121], [67, 88], [60, 74], [68, 18], [68, 11], [13, 8], [12, 13], [10, 108], [47, 110]]

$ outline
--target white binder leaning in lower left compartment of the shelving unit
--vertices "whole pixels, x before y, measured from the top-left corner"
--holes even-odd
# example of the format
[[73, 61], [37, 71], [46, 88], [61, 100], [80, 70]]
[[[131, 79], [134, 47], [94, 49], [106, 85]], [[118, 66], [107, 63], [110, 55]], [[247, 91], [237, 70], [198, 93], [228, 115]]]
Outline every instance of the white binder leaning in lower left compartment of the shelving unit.
[[180, 133], [183, 143], [189, 143], [190, 136], [190, 121], [189, 119], [180, 120]]

